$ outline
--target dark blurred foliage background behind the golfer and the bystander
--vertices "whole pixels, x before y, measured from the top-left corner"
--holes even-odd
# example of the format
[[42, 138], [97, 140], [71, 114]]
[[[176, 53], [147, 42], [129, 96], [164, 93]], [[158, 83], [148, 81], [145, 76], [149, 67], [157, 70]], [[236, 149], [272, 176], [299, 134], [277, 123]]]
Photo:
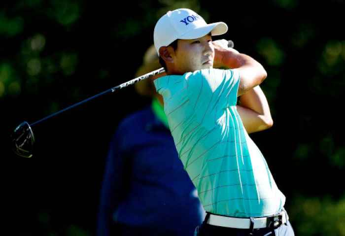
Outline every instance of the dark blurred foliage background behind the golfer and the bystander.
[[[21, 122], [134, 78], [156, 21], [187, 7], [224, 21], [235, 48], [267, 70], [274, 126], [251, 135], [296, 235], [345, 235], [344, 0], [0, 3], [1, 235], [95, 234], [104, 162], [119, 121], [150, 103], [134, 87], [33, 126], [35, 155], [11, 151]], [[4, 233], [6, 232], [6, 233]]]

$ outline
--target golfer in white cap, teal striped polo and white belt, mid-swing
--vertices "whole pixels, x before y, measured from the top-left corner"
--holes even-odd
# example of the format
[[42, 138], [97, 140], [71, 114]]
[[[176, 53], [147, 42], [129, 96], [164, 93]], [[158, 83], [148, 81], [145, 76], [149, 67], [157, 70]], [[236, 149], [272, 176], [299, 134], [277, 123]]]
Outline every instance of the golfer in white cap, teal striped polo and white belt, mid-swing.
[[212, 35], [227, 30], [225, 23], [207, 24], [189, 9], [169, 11], [154, 30], [167, 72], [154, 84], [178, 156], [207, 212], [195, 233], [293, 236], [285, 197], [236, 108], [238, 97], [257, 88], [267, 73], [253, 58], [212, 42]]

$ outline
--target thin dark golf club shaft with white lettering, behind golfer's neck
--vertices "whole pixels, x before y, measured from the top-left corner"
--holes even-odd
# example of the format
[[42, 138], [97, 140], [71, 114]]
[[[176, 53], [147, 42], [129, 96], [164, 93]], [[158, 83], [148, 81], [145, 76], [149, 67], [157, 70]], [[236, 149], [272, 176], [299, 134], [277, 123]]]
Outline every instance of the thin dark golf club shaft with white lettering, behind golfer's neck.
[[127, 87], [127, 86], [129, 86], [129, 85], [135, 84], [135, 83], [137, 83], [138, 81], [141, 81], [141, 80], [143, 80], [143, 79], [147, 79], [148, 77], [151, 77], [151, 76], [153, 76], [153, 75], [162, 73], [162, 72], [164, 72], [164, 71], [165, 71], [165, 70], [164, 70], [164, 68], [162, 67], [162, 68], [160, 68], [160, 69], [156, 69], [156, 70], [153, 70], [153, 71], [151, 71], [151, 72], [148, 72], [147, 74], [141, 75], [141, 76], [139, 76], [139, 77], [137, 77], [137, 78], [135, 78], [135, 79], [132, 79], [132, 80], [130, 80], [130, 81], [127, 81], [127, 82], [125, 82], [125, 83], [122, 83], [122, 84], [120, 84], [120, 85], [118, 85], [118, 86], [116, 86], [116, 87], [113, 87], [113, 88], [111, 88], [111, 89], [108, 89], [108, 90], [106, 90], [106, 91], [104, 91], [104, 92], [102, 92], [102, 93], [99, 93], [99, 94], [97, 94], [97, 95], [95, 95], [95, 96], [92, 96], [92, 97], [90, 97], [90, 98], [88, 98], [88, 99], [85, 99], [85, 100], [83, 100], [83, 101], [79, 101], [78, 103], [75, 103], [74, 105], [71, 105], [71, 106], [69, 106], [69, 107], [66, 107], [65, 109], [62, 109], [62, 110], [60, 110], [60, 111], [58, 111], [58, 112], [56, 112], [56, 113], [54, 113], [54, 114], [51, 114], [51, 115], [49, 115], [49, 116], [47, 116], [47, 117], [44, 117], [44, 118], [42, 118], [42, 119], [40, 119], [40, 120], [38, 120], [38, 121], [36, 121], [36, 122], [30, 124], [30, 126], [33, 126], [33, 125], [35, 125], [35, 124], [37, 124], [37, 123], [39, 123], [39, 122], [42, 122], [42, 121], [44, 121], [44, 120], [46, 120], [46, 119], [49, 119], [49, 118], [51, 118], [51, 117], [53, 117], [53, 116], [56, 116], [56, 115], [58, 115], [58, 114], [60, 114], [60, 113], [62, 113], [62, 112], [65, 112], [65, 111], [67, 111], [67, 110], [69, 110], [69, 109], [71, 109], [71, 108], [73, 108], [73, 107], [76, 107], [76, 106], [78, 106], [78, 105], [81, 105], [81, 104], [83, 104], [83, 103], [85, 103], [85, 102], [87, 102], [87, 101], [90, 101], [90, 100], [93, 100], [93, 99], [98, 98], [98, 97], [100, 97], [100, 96], [103, 96], [104, 94], [113, 93], [113, 92], [115, 92], [116, 90], [120, 90], [120, 89], [125, 88], [125, 87]]

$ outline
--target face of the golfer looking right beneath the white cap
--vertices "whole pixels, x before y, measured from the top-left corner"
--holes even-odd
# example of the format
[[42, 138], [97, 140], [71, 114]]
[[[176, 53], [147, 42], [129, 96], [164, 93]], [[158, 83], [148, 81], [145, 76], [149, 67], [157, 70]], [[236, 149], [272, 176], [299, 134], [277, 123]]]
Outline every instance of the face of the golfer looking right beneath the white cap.
[[207, 34], [196, 39], [178, 39], [173, 60], [175, 74], [211, 68], [214, 60], [212, 36]]

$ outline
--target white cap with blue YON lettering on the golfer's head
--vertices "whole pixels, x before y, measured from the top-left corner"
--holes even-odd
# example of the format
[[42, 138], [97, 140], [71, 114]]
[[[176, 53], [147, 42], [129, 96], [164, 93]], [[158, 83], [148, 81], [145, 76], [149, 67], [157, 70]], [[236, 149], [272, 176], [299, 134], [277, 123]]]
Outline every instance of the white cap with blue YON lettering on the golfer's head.
[[194, 11], [186, 8], [168, 11], [162, 16], [154, 29], [153, 40], [159, 55], [159, 48], [168, 46], [176, 39], [194, 39], [205, 36], [225, 34], [228, 26], [224, 22], [207, 24]]

